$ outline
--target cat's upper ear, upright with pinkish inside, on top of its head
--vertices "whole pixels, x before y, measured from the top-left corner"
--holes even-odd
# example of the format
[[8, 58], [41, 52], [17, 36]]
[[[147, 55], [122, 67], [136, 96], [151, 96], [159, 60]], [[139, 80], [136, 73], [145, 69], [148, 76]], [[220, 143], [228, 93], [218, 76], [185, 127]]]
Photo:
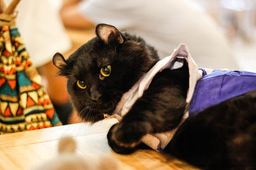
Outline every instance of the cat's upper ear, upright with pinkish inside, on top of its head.
[[122, 38], [121, 32], [112, 25], [98, 24], [96, 27], [96, 34], [106, 45], [124, 43], [124, 38]]

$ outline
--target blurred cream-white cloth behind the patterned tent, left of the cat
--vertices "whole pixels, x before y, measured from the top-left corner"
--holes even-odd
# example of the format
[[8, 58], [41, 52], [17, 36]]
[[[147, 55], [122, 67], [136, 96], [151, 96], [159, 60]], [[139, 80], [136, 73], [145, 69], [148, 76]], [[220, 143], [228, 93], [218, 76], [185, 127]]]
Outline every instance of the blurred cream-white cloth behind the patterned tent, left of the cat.
[[[8, 3], [10, 1], [6, 1]], [[16, 25], [34, 66], [51, 62], [56, 52], [65, 53], [70, 50], [72, 43], [58, 11], [52, 8], [49, 1], [20, 1], [16, 10]]]

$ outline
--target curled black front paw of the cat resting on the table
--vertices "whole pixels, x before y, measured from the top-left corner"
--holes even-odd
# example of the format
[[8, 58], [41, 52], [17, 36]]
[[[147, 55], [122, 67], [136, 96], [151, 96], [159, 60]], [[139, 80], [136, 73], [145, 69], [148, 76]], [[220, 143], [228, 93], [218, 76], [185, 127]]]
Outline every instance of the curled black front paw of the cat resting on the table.
[[132, 129], [132, 125], [115, 124], [109, 129], [108, 143], [116, 153], [129, 154], [137, 150], [142, 136], [143, 132]]

